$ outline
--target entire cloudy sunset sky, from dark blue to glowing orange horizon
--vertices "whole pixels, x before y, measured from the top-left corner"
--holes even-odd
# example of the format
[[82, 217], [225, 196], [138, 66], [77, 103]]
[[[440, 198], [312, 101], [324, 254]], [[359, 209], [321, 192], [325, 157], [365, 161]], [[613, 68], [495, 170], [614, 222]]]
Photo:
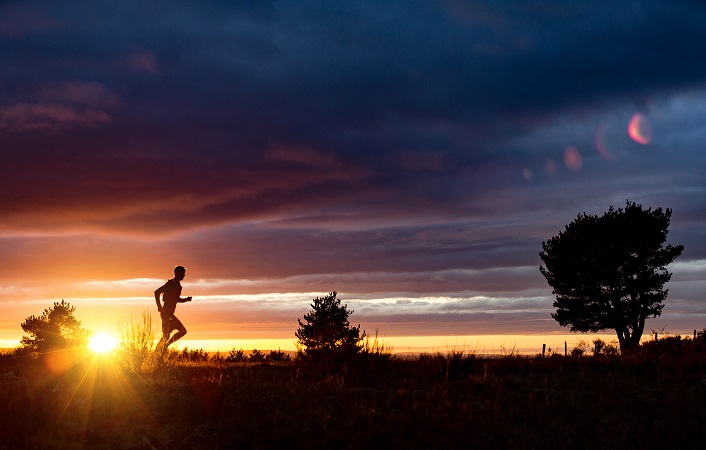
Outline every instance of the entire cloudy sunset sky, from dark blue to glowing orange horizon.
[[542, 241], [626, 199], [685, 247], [647, 333], [701, 330], [704, 24], [696, 1], [1, 2], [0, 347], [62, 298], [93, 329], [157, 320], [177, 264], [190, 347], [293, 348], [334, 290], [396, 351], [536, 347], [568, 333]]

